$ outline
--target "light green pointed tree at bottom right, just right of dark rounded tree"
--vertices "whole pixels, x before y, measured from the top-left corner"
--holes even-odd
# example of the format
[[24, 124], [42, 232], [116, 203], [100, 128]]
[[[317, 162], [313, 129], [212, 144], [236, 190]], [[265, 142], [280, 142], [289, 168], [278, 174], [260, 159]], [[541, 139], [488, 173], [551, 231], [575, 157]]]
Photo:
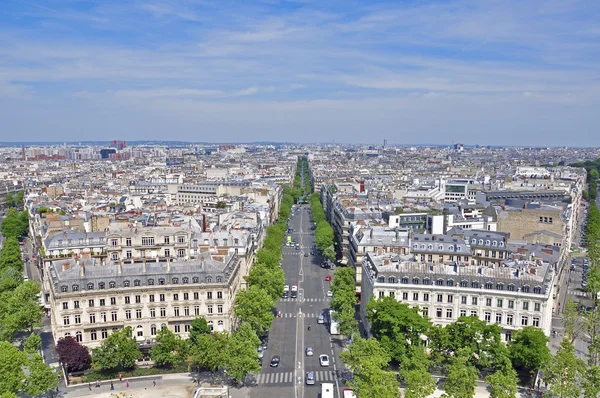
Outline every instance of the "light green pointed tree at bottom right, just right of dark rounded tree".
[[545, 362], [544, 370], [552, 394], [560, 398], [579, 398], [585, 364], [577, 358], [575, 347], [567, 339], [561, 341], [556, 354]]

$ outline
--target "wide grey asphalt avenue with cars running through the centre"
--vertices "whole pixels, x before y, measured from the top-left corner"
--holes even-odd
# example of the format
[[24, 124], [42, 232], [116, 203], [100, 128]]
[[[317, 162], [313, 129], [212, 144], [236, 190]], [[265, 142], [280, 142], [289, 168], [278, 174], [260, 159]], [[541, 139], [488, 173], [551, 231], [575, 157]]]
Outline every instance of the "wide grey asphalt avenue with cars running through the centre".
[[[309, 205], [297, 206], [289, 222], [289, 228], [294, 229], [292, 239], [296, 240], [300, 249], [283, 248], [283, 269], [286, 283], [290, 287], [298, 285], [298, 297], [281, 299], [276, 303], [281, 317], [275, 318], [269, 331], [262, 371], [255, 376], [255, 385], [250, 390], [252, 397], [314, 398], [320, 395], [322, 382], [340, 384], [335, 376], [341, 365], [340, 336], [330, 336], [327, 323], [317, 324], [319, 314], [324, 314], [329, 308], [329, 282], [325, 281], [325, 277], [333, 276], [333, 271], [321, 268], [316, 256], [304, 256], [314, 245], [309, 209]], [[310, 331], [308, 325], [311, 325]], [[306, 347], [313, 348], [314, 356], [305, 355]], [[321, 354], [329, 356], [328, 367], [319, 365]], [[270, 367], [274, 355], [281, 358], [277, 368]], [[311, 371], [315, 372], [316, 383], [309, 386], [305, 384], [305, 375]]]

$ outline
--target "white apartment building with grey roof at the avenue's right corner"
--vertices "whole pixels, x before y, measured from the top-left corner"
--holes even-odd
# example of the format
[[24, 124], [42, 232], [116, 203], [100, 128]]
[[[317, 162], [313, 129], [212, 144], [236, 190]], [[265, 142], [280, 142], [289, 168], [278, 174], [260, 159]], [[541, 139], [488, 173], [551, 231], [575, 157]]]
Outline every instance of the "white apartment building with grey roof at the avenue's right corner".
[[461, 266], [403, 261], [395, 255], [367, 253], [363, 261], [360, 316], [367, 325], [370, 297], [395, 297], [420, 309], [434, 324], [476, 316], [502, 327], [510, 341], [515, 330], [541, 328], [550, 335], [554, 267], [541, 261], [510, 261], [503, 267]]

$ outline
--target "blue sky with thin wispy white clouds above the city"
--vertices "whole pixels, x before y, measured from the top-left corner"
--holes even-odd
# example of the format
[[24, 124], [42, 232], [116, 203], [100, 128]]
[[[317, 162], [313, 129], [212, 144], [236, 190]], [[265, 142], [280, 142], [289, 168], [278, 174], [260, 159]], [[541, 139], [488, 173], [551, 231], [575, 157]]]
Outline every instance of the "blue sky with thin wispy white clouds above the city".
[[3, 0], [0, 141], [600, 145], [597, 0]]

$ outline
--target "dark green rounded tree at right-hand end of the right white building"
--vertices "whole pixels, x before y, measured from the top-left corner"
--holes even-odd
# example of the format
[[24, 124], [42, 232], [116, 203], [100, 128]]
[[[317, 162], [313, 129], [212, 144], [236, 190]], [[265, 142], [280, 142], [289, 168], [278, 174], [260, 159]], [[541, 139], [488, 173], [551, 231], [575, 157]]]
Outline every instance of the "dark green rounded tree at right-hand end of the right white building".
[[509, 343], [510, 359], [515, 368], [533, 373], [550, 358], [548, 338], [541, 329], [527, 326], [517, 331]]

